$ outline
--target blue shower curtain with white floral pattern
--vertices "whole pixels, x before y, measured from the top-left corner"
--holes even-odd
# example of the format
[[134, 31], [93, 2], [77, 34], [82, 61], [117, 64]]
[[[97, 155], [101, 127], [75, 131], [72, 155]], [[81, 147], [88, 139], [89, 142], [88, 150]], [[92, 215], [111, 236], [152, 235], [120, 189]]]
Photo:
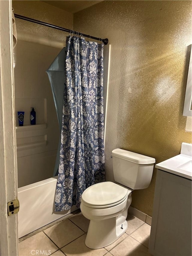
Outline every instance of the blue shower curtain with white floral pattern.
[[67, 37], [55, 211], [79, 207], [83, 191], [105, 180], [103, 47]]

